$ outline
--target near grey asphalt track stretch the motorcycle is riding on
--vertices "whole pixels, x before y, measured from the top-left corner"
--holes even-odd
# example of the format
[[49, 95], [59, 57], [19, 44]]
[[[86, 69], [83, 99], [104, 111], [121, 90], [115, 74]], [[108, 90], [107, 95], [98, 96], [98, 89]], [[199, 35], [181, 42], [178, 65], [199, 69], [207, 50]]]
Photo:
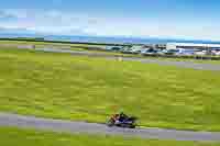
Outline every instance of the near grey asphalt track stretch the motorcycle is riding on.
[[16, 126], [62, 133], [86, 133], [167, 141], [220, 142], [220, 133], [188, 132], [164, 128], [121, 128], [105, 124], [40, 119], [18, 114], [0, 113], [0, 126]]

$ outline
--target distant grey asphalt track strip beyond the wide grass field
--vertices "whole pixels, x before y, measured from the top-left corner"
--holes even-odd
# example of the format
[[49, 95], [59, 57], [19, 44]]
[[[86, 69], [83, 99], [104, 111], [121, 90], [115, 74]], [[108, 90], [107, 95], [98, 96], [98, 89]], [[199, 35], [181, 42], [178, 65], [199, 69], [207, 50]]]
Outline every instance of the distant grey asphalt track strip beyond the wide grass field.
[[[50, 53], [68, 53], [72, 55], [81, 55], [81, 56], [91, 56], [91, 57], [105, 57], [108, 59], [119, 59], [117, 56], [110, 56], [106, 53], [91, 53], [91, 52], [77, 52], [77, 50], [70, 50], [70, 49], [55, 49], [55, 48], [35, 48], [35, 50], [42, 50], [42, 52], [50, 52]], [[165, 65], [165, 66], [176, 66], [176, 67], [183, 67], [183, 68], [193, 68], [197, 70], [212, 70], [212, 71], [219, 71], [220, 70], [220, 64], [205, 64], [205, 63], [193, 63], [193, 61], [175, 61], [175, 60], [160, 60], [155, 58], [138, 58], [138, 57], [121, 57], [122, 60], [128, 61], [141, 61], [145, 64], [158, 64], [158, 65]]]

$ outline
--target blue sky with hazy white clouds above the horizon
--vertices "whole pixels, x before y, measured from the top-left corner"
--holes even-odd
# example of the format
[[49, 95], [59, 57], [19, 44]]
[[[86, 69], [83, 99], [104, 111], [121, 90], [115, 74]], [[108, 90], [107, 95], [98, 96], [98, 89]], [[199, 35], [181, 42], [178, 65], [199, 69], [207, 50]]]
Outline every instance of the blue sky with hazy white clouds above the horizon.
[[219, 0], [3, 0], [1, 33], [220, 41]]

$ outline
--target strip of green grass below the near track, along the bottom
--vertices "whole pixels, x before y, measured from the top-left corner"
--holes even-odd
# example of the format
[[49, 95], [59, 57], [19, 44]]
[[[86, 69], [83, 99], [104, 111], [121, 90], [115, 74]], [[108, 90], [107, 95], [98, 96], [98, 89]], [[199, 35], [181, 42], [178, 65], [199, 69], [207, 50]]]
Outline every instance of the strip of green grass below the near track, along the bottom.
[[1, 146], [219, 146], [219, 143], [140, 139], [113, 136], [69, 135], [0, 127]]

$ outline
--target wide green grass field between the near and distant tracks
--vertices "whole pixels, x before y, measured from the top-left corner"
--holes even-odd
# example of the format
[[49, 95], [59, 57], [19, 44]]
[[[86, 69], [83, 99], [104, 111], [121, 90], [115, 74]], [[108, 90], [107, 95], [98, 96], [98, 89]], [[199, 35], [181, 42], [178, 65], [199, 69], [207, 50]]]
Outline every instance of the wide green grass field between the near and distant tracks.
[[220, 131], [219, 71], [0, 50], [0, 110], [106, 122], [123, 110], [144, 126]]

